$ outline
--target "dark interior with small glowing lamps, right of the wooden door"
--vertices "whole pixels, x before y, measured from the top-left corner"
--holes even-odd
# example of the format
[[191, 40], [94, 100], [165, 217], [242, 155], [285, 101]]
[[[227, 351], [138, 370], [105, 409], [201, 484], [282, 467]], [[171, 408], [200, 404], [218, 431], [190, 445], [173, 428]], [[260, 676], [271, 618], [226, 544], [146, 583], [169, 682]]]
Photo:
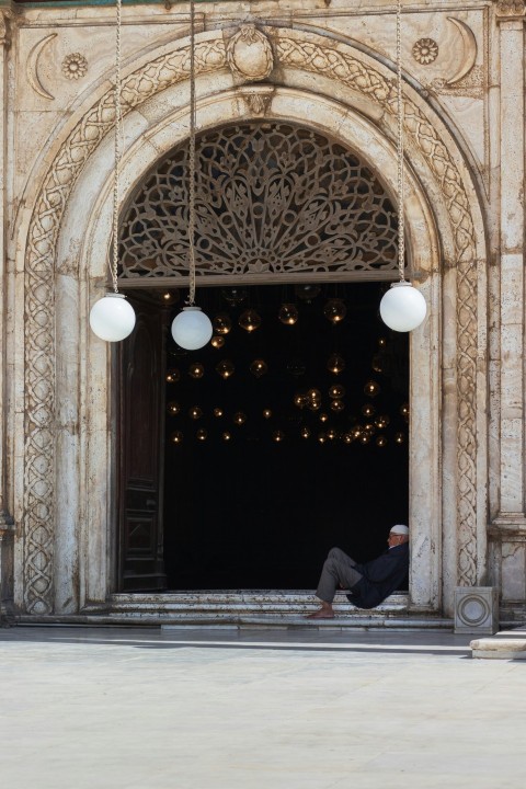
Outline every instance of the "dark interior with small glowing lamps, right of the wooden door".
[[[198, 291], [199, 306], [226, 315], [231, 329], [219, 335], [222, 347], [188, 353], [167, 343], [170, 590], [312, 588], [333, 545], [366, 560], [385, 548], [390, 525], [407, 522], [409, 343], [378, 317], [385, 289]], [[340, 322], [324, 315], [329, 299], [346, 309]], [[278, 319], [283, 304], [296, 307], [296, 323]], [[247, 309], [261, 317], [252, 332], [239, 325]], [[344, 369], [334, 371], [342, 359]], [[267, 367], [260, 376], [261, 368], [251, 371], [255, 361]], [[231, 375], [217, 371], [220, 363]]]

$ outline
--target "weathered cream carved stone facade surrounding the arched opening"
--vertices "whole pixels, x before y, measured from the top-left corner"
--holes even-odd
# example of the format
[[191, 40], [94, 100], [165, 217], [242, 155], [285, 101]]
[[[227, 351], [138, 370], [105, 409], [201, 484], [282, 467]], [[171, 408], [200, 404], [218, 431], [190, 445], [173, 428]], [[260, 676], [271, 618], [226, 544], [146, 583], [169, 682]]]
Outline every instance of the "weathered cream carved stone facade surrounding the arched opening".
[[[198, 133], [310, 128], [396, 194], [392, 3], [241, 5], [198, 4]], [[404, 14], [404, 210], [428, 304], [411, 345], [409, 607], [430, 616], [451, 616], [457, 586], [496, 586], [502, 616], [526, 616], [524, 8]], [[111, 348], [88, 324], [111, 240], [113, 50], [108, 7], [0, 4], [1, 567], [22, 615], [115, 591]], [[125, 7], [123, 55], [127, 204], [187, 136], [186, 5]], [[238, 281], [254, 273], [270, 274]]]

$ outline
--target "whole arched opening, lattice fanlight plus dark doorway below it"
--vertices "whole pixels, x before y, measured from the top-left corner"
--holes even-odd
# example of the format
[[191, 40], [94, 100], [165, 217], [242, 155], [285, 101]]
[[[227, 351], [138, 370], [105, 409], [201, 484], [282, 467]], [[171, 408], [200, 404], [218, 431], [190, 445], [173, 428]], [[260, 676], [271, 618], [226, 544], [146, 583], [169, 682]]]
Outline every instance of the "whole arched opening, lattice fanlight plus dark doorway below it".
[[185, 142], [122, 222], [122, 284], [141, 291], [121, 353], [119, 584], [311, 587], [333, 544], [369, 558], [408, 517], [409, 350], [377, 316], [396, 210], [359, 156], [298, 124], [229, 124], [197, 149], [199, 304], [220, 342], [187, 354], [168, 332], [187, 271]]

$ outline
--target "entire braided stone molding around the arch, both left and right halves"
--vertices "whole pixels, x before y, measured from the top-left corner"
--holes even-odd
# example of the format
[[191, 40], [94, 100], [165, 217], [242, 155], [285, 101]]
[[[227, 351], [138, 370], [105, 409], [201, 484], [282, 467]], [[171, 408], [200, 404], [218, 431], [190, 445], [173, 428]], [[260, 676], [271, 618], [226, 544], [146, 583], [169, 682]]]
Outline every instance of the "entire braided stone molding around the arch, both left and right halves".
[[[286, 37], [275, 39], [282, 64], [331, 77], [359, 91], [396, 116], [395, 85], [350, 55]], [[196, 73], [226, 66], [222, 39], [198, 43]], [[190, 75], [188, 47], [164, 54], [123, 80], [123, 113]], [[68, 197], [115, 121], [113, 89], [91, 107], [70, 133], [50, 165], [32, 215], [25, 260], [25, 605], [33, 614], [53, 610], [55, 478], [55, 295], [54, 263]], [[474, 229], [461, 176], [420, 108], [404, 98], [405, 129], [426, 158], [446, 196], [455, 228], [458, 259], [458, 471], [459, 583], [477, 582], [476, 540], [476, 354], [477, 270]]]

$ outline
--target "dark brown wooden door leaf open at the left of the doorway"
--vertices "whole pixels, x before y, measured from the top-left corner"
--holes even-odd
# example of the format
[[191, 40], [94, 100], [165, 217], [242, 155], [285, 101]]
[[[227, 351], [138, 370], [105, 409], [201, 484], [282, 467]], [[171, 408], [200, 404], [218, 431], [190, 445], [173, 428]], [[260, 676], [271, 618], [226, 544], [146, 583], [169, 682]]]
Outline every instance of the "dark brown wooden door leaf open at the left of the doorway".
[[158, 298], [132, 296], [137, 315], [121, 343], [118, 392], [118, 588], [165, 587], [163, 568], [164, 338]]

